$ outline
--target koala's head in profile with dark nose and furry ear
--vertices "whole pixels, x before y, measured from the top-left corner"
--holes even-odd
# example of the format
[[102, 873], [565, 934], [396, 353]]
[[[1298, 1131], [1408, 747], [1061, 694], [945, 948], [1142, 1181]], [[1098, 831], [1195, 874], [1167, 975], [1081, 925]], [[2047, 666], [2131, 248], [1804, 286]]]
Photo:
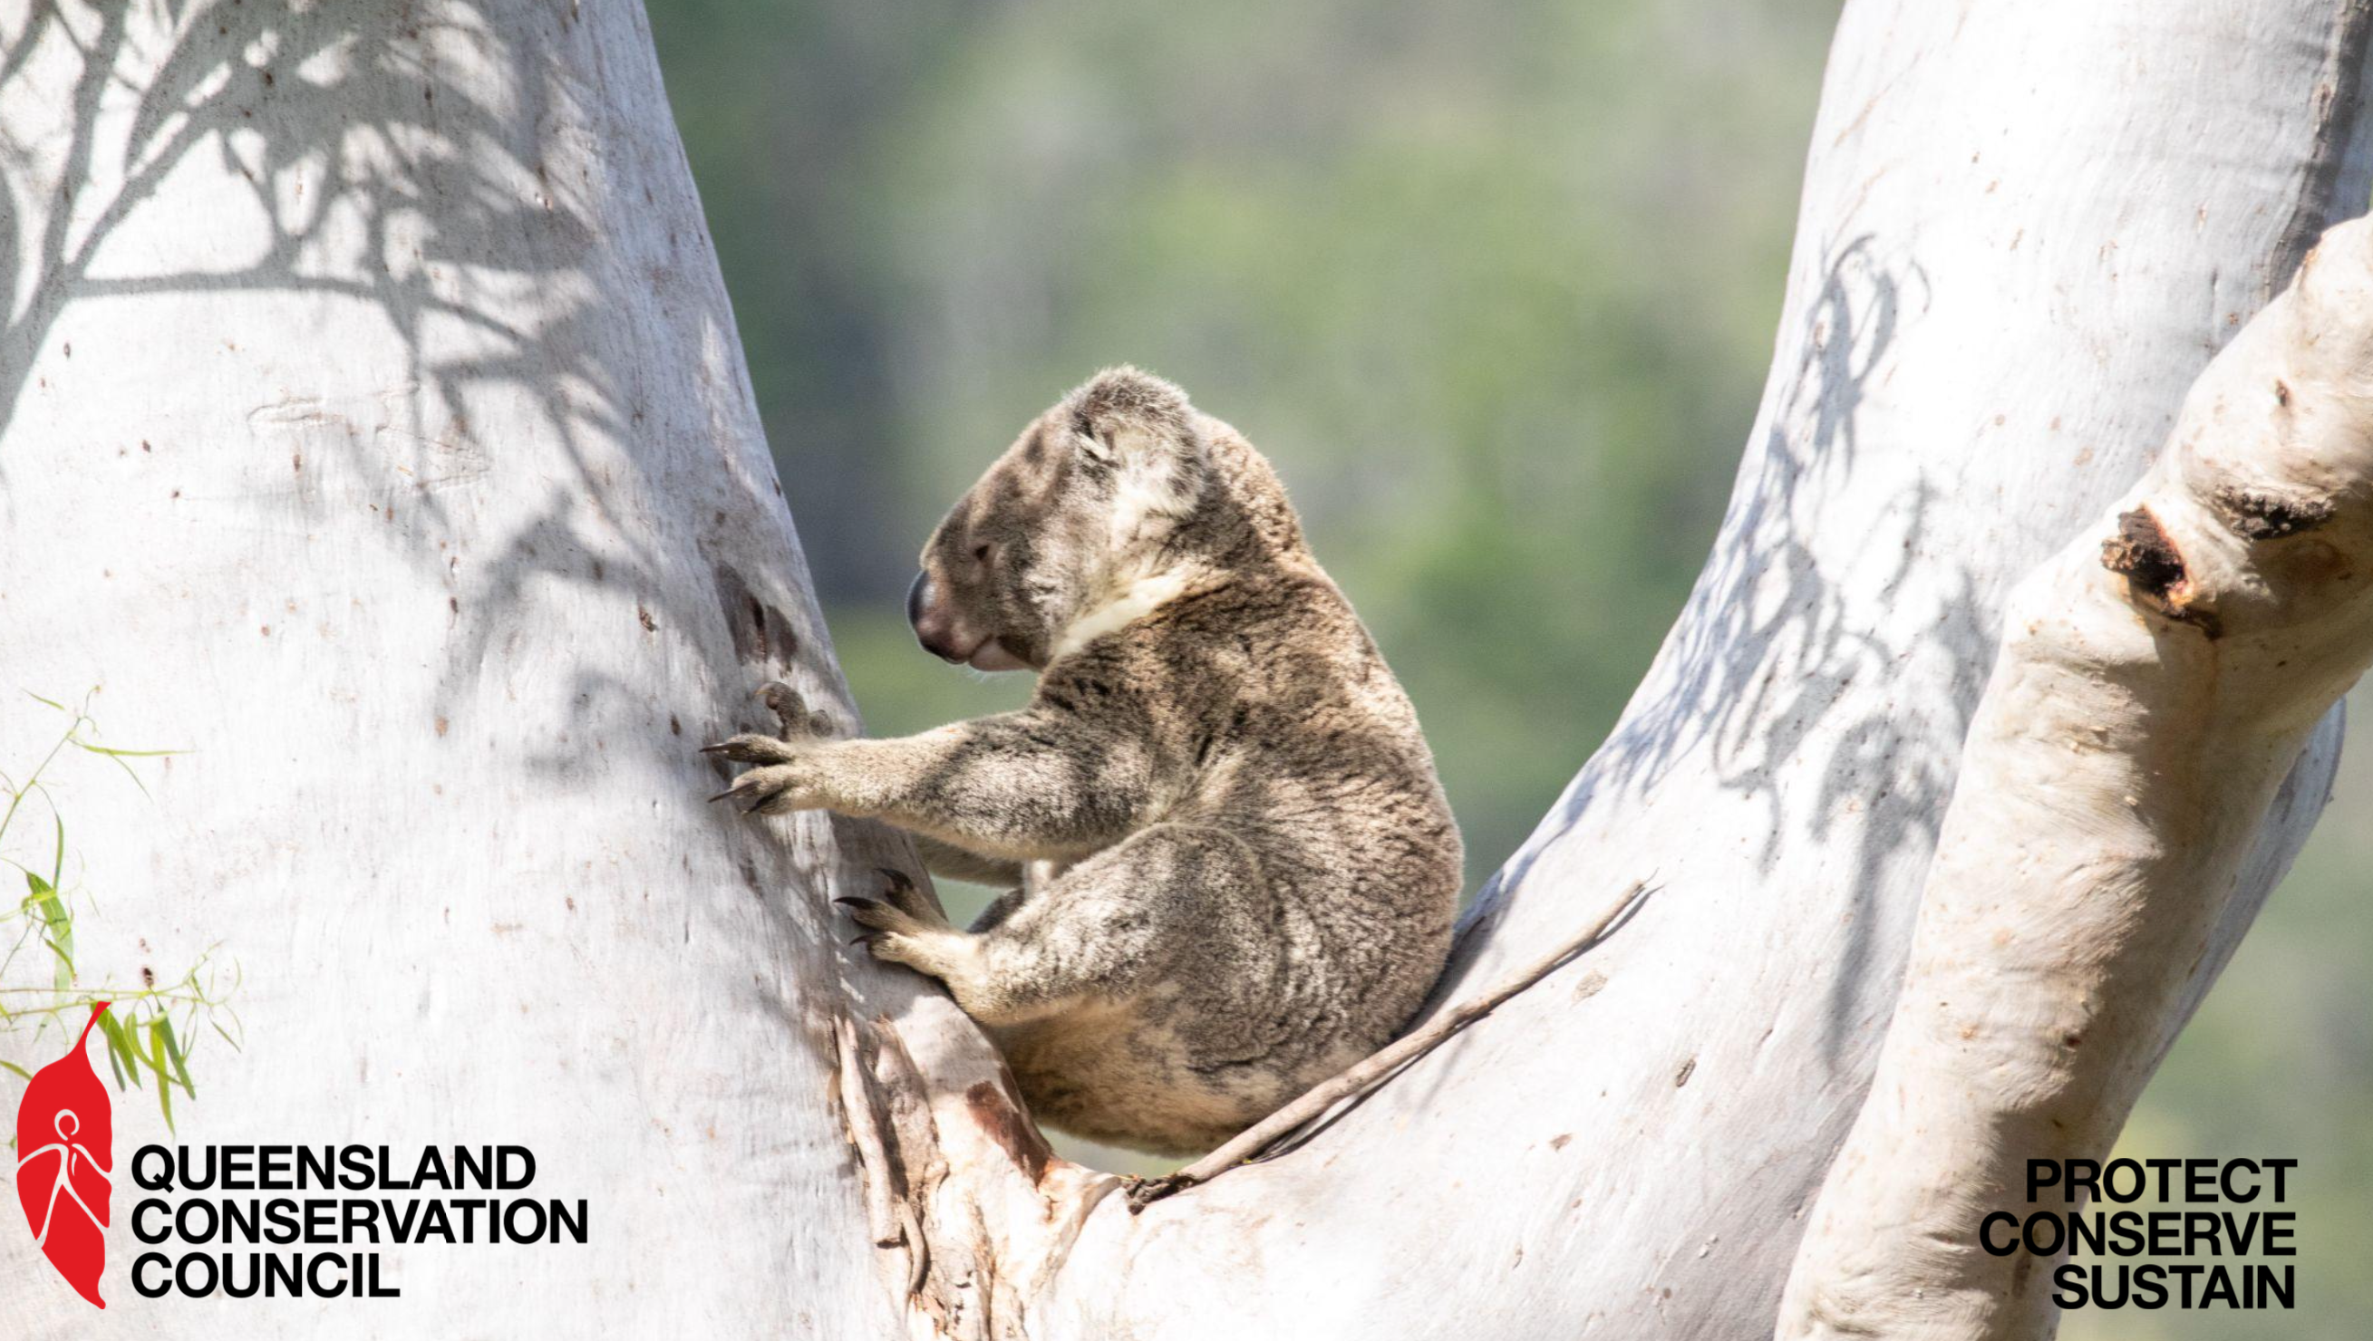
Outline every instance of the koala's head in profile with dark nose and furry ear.
[[1111, 370], [1037, 418], [923, 546], [906, 622], [975, 669], [1044, 667], [1063, 629], [1203, 487], [1177, 387]]

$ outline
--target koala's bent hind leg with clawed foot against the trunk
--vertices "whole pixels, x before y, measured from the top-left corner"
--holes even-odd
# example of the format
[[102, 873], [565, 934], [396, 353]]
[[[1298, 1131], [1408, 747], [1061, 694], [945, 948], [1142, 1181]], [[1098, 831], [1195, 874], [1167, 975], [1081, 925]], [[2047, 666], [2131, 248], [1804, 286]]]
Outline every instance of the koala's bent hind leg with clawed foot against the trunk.
[[1267, 907], [1267, 890], [1234, 835], [1156, 824], [1013, 900], [999, 921], [982, 919], [980, 933], [842, 902], [878, 933], [876, 957], [947, 983], [980, 1023], [1018, 1025], [1082, 999], [1130, 1002], [1170, 980], [1182, 961], [1220, 952], [1215, 933], [1224, 938], [1229, 919], [1215, 911]]

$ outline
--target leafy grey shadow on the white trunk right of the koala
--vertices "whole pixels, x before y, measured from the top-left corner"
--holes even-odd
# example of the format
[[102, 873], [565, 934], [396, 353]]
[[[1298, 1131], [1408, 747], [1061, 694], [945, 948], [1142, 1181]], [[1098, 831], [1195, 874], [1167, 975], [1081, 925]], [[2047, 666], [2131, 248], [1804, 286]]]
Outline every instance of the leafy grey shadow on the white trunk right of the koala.
[[[1825, 843], [1856, 816], [1851, 928], [1825, 1011], [1832, 1054], [1865, 1013], [1868, 1002], [1856, 997], [1877, 952], [1882, 873], [1889, 857], [1934, 847], [1955, 767], [1927, 743], [1958, 743], [1967, 733], [1996, 629], [1993, 596], [1979, 574], [1929, 553], [1948, 501], [1927, 479], [1908, 479], [1887, 501], [1887, 522], [1860, 536], [1839, 536], [1825, 517], [1827, 503], [1846, 496], [1868, 465], [1863, 406], [1875, 377], [1887, 375], [1903, 323], [1925, 311], [1929, 294], [1920, 263], [1887, 259], [1868, 233], [1834, 247], [1822, 275], [1799, 337], [1782, 344], [1803, 356], [1777, 375], [1761, 441], [1742, 460], [1713, 553], [1654, 669], [1547, 819], [1467, 909], [1429, 1013], [1481, 987], [1467, 980], [1481, 942], [1552, 845], [1597, 805], [1652, 797], [1685, 762], [1709, 769], [1718, 788], [1763, 805], [1768, 824], [1754, 866], [1766, 876], [1789, 845]], [[1891, 605], [1915, 577], [1943, 589], [1934, 622], [1872, 629], [1868, 612]], [[1872, 703], [1849, 688], [1898, 676], [1915, 648], [1951, 660], [1948, 695], [1882, 700], [1853, 722], [1837, 719], [1849, 703]], [[1801, 760], [1808, 748], [1825, 750], [1813, 769]], [[1808, 774], [1820, 790], [1792, 819], [1782, 778], [1799, 795]], [[1609, 871], [1609, 883], [1628, 876], [1637, 873]]]

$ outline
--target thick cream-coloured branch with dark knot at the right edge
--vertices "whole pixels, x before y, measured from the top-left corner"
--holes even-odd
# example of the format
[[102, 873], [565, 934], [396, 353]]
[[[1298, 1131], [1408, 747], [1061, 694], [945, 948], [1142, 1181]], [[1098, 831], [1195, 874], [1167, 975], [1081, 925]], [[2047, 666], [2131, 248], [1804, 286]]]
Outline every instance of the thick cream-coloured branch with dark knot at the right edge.
[[[2209, 363], [2110, 527], [2012, 593], [1780, 1336], [2050, 1336], [2053, 1263], [1977, 1251], [1979, 1220], [2027, 1208], [2027, 1161], [2110, 1153], [2247, 926], [2242, 864], [2292, 760], [2373, 665], [2373, 221], [2333, 228]], [[2162, 615], [2214, 608], [2216, 641], [2152, 636], [2105, 567]]]

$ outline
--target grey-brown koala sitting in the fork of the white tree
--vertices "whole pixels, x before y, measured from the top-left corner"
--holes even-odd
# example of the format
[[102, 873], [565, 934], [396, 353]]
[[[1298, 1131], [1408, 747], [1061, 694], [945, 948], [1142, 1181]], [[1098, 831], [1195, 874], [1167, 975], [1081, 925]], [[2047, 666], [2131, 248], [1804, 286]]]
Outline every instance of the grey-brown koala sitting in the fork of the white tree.
[[1018, 712], [895, 741], [736, 736], [724, 797], [914, 835], [1009, 885], [956, 930], [850, 904], [1054, 1127], [1208, 1151], [1388, 1042], [1431, 990], [1459, 831], [1417, 712], [1229, 425], [1134, 368], [1039, 415], [923, 548], [925, 650], [1030, 669]]

